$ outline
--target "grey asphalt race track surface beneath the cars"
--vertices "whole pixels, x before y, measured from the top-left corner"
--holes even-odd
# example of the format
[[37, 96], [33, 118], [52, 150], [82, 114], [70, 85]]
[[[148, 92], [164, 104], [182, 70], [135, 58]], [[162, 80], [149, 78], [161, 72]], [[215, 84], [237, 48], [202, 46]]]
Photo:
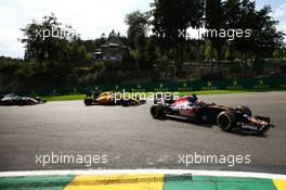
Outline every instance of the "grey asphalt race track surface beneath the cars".
[[[286, 174], [286, 92], [200, 96], [199, 99], [231, 106], [246, 104], [256, 115], [270, 116], [275, 128], [257, 137], [223, 132], [211, 125], [156, 121], [150, 114], [152, 103], [122, 107], [55, 101], [34, 106], [1, 106], [0, 172], [180, 168]], [[52, 154], [81, 156], [86, 162], [54, 160], [53, 164], [43, 166], [42, 157], [51, 159]], [[220, 164], [195, 164], [191, 162], [195, 154], [229, 160]], [[91, 165], [89, 155], [95, 155]], [[234, 166], [230, 166], [232, 155], [239, 157]], [[36, 156], [41, 156], [41, 162]], [[186, 161], [186, 156], [187, 166], [181, 160]], [[245, 163], [245, 156], [249, 156], [250, 163]]]

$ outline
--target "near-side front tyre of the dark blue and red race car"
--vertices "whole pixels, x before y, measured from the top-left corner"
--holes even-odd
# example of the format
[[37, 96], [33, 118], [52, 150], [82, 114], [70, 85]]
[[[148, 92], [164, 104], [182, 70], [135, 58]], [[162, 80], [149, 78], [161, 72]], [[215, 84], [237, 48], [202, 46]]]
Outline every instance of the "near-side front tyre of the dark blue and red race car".
[[217, 124], [223, 131], [229, 131], [236, 125], [236, 115], [232, 110], [221, 112], [217, 117]]

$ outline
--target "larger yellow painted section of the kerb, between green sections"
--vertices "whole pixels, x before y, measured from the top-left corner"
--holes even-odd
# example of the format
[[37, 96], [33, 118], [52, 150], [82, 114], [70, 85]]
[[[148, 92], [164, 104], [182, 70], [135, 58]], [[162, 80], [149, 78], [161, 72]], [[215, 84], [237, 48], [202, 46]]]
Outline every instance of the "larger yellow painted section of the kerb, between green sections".
[[65, 190], [162, 190], [164, 174], [80, 175]]

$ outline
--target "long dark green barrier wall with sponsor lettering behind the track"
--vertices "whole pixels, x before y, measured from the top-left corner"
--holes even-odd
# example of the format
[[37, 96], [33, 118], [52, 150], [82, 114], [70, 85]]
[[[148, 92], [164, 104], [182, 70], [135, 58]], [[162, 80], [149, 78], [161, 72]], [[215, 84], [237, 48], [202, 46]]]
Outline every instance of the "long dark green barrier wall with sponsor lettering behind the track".
[[[90, 85], [86, 88], [75, 87], [70, 89], [52, 90], [28, 90], [16, 92], [21, 96], [60, 96], [77, 94], [87, 91], [198, 91], [198, 90], [268, 90], [286, 89], [286, 78], [246, 78], [246, 79], [225, 79], [207, 81], [164, 81], [164, 83], [139, 83], [139, 84], [115, 84], [115, 85]], [[6, 93], [0, 90], [1, 93]]]

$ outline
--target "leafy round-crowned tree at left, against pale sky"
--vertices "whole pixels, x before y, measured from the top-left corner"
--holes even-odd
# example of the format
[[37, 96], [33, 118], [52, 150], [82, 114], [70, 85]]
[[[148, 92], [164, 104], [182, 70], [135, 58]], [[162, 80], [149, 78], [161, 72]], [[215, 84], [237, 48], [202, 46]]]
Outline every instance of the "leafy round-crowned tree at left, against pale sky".
[[[54, 14], [43, 16], [40, 22], [32, 21], [22, 30], [25, 60], [35, 61], [29, 85], [36, 84], [40, 88], [67, 85], [75, 65], [86, 60], [87, 51], [79, 45], [79, 35], [72, 26], [57, 22]], [[23, 68], [17, 76], [27, 71]]]

